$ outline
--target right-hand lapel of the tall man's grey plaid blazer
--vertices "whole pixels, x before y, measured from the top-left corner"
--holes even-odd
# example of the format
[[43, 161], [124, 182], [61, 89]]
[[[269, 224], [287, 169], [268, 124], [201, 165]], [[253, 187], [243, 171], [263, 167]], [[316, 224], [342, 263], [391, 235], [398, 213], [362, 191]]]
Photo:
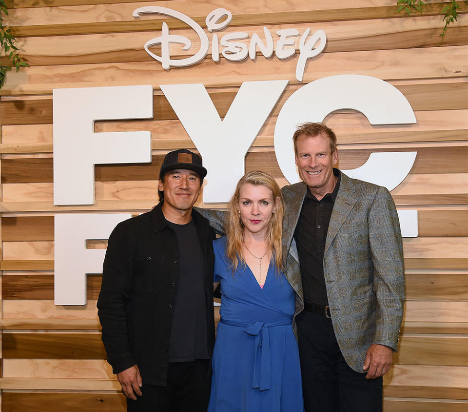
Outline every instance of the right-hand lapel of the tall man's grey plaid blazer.
[[327, 254], [331, 242], [333, 242], [333, 239], [336, 237], [338, 231], [343, 226], [343, 223], [356, 203], [356, 200], [352, 197], [355, 189], [351, 179], [342, 172], [340, 173], [341, 183], [340, 188], [338, 189], [338, 193], [336, 194], [333, 210], [331, 211], [327, 240], [325, 241], [324, 256]]

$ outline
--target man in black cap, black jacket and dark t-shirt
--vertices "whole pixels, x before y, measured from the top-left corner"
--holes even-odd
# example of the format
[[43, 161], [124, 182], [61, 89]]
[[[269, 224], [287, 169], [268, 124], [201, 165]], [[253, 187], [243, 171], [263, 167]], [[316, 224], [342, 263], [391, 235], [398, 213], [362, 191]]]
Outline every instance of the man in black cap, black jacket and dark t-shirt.
[[206, 173], [197, 154], [168, 153], [158, 205], [109, 238], [98, 315], [127, 411], [208, 407], [215, 234], [193, 209]]

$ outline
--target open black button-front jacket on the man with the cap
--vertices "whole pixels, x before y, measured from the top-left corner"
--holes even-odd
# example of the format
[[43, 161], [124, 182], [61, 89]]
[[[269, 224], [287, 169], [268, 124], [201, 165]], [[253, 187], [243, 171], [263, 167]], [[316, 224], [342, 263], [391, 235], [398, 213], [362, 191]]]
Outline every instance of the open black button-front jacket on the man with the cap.
[[[143, 382], [165, 386], [169, 338], [177, 291], [176, 233], [159, 203], [152, 211], [121, 222], [109, 237], [98, 298], [102, 342], [114, 373], [137, 364]], [[192, 211], [204, 253], [208, 353], [215, 343], [213, 240], [208, 221]], [[211, 362], [210, 362], [211, 365]], [[207, 374], [211, 373], [211, 368]]]

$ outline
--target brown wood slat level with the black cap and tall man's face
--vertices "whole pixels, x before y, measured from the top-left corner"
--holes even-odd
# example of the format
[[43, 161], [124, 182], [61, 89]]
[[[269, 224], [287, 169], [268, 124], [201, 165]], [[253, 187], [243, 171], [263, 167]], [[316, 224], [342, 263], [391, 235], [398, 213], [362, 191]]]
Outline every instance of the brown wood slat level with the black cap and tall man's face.
[[[411, 169], [418, 173], [467, 173], [468, 146], [405, 147], [339, 150], [339, 168], [353, 169], [363, 165], [372, 152], [417, 151]], [[96, 181], [157, 180], [164, 155], [153, 155], [151, 164], [96, 165]], [[52, 158], [3, 159], [2, 183], [35, 183], [53, 181]], [[263, 170], [274, 177], [283, 177], [274, 152], [251, 152], [245, 159], [245, 171]]]

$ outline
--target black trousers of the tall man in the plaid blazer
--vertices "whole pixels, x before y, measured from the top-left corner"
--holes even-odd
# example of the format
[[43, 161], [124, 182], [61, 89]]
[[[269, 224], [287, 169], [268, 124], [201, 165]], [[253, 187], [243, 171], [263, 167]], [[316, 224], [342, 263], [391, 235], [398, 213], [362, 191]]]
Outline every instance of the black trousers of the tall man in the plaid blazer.
[[381, 412], [382, 378], [353, 371], [336, 341], [331, 319], [303, 311], [297, 318], [306, 412]]

